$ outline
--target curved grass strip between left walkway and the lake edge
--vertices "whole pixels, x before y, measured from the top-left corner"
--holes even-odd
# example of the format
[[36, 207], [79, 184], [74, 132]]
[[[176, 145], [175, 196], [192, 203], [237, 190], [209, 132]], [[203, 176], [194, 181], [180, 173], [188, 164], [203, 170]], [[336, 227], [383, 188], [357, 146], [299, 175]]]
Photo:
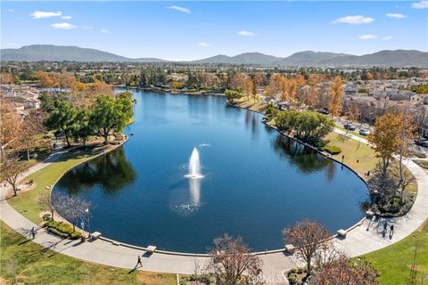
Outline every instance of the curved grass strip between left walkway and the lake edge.
[[37, 183], [37, 187], [21, 193], [17, 197], [8, 199], [9, 204], [30, 221], [39, 224], [41, 222], [39, 214], [42, 210], [37, 205], [37, 199], [42, 193], [49, 191], [46, 189], [46, 186], [53, 185], [56, 179], [70, 169], [70, 167], [86, 159], [90, 159], [93, 155], [93, 153], [86, 153], [84, 151], [73, 151], [62, 155], [62, 158], [51, 165], [29, 175], [26, 180], [29, 181], [32, 179]]

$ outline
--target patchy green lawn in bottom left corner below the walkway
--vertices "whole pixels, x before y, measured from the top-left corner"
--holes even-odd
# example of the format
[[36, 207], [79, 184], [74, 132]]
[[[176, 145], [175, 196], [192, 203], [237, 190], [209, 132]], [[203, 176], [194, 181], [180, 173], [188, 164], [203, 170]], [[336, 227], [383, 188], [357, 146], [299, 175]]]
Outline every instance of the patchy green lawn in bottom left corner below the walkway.
[[95, 265], [46, 250], [3, 222], [0, 222], [0, 230], [1, 284], [13, 283], [13, 271], [19, 284], [176, 284], [175, 274], [129, 273], [128, 269]]

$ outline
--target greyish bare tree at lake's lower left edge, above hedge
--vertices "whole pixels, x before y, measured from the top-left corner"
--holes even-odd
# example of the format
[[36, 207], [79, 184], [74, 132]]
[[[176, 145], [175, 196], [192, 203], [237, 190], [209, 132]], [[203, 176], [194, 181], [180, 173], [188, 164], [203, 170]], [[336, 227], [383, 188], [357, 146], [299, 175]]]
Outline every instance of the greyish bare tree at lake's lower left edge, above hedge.
[[73, 231], [76, 231], [76, 223], [78, 220], [86, 218], [86, 209], [90, 207], [90, 203], [72, 194], [55, 199], [54, 206], [58, 213], [73, 224]]

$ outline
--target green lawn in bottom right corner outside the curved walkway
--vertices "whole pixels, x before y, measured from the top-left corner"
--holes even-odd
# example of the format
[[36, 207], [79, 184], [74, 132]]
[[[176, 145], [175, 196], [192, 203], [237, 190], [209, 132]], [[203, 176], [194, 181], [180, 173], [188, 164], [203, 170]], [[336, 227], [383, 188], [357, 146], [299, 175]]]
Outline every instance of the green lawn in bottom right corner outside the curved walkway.
[[[380, 284], [411, 284], [410, 266], [413, 263], [416, 240], [418, 240], [419, 247], [416, 256], [415, 284], [428, 284], [428, 220], [419, 230], [413, 232], [406, 239], [365, 255], [367, 260], [381, 274], [379, 277]], [[421, 278], [424, 278], [424, 282], [421, 281]]]

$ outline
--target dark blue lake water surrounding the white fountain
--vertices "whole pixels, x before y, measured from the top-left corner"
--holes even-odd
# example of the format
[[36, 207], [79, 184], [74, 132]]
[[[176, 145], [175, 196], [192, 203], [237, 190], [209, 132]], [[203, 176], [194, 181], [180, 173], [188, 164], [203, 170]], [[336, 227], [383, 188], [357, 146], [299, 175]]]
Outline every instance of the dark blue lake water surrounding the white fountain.
[[[284, 247], [282, 229], [301, 219], [335, 232], [361, 218], [365, 183], [268, 129], [261, 115], [214, 95], [134, 97], [129, 141], [74, 168], [53, 190], [91, 201], [92, 232], [182, 252], [206, 252], [228, 232], [266, 250]], [[194, 147], [202, 180], [185, 178]]]

